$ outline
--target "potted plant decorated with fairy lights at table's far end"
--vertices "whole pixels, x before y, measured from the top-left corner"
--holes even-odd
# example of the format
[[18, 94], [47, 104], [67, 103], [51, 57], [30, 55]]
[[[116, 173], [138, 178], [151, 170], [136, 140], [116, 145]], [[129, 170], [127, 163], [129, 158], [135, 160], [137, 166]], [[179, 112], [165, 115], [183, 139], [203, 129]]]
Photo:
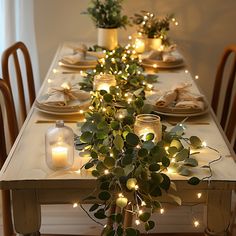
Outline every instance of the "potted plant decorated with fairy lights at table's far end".
[[134, 15], [133, 23], [138, 25], [138, 32], [146, 36], [146, 50], [161, 50], [170, 44], [167, 33], [172, 20], [173, 14], [160, 18], [153, 13], [141, 11]]

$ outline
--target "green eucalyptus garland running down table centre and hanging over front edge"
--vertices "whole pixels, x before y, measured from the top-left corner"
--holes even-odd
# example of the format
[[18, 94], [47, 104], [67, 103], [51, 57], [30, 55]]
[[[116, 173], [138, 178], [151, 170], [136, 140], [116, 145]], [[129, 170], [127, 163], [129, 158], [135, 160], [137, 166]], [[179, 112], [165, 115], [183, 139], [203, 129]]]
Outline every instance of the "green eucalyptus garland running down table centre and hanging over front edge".
[[[191, 168], [198, 165], [190, 146], [202, 147], [198, 137], [184, 137], [183, 124], [170, 130], [163, 126], [162, 140], [157, 143], [152, 133], [145, 137], [134, 133], [135, 117], [152, 112], [152, 107], [145, 104], [147, 77], [130, 49], [131, 46], [107, 51], [105, 59], [81, 84], [84, 89], [91, 89], [93, 76], [99, 73], [112, 73], [117, 80], [117, 86], [110, 87], [109, 92], [91, 92], [86, 121], [81, 135], [75, 138], [80, 155], [90, 157], [82, 168], [91, 169], [98, 181], [94, 194], [86, 200], [98, 202], [89, 209], [92, 218], [108, 220], [104, 235], [139, 235], [135, 226], [124, 225], [127, 212], [135, 218], [136, 225], [143, 223], [146, 231], [153, 229], [151, 216], [162, 208], [160, 198], [164, 194], [181, 204], [181, 199], [173, 194], [175, 185], [168, 170], [189, 176]], [[189, 183], [199, 181], [192, 177]]]

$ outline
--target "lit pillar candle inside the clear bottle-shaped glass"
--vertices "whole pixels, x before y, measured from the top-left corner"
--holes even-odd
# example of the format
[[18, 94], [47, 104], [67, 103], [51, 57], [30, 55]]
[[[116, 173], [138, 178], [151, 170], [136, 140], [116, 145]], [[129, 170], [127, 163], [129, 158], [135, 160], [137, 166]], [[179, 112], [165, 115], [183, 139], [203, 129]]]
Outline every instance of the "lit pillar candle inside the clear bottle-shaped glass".
[[59, 144], [52, 147], [52, 165], [55, 168], [68, 166], [68, 147], [66, 144]]

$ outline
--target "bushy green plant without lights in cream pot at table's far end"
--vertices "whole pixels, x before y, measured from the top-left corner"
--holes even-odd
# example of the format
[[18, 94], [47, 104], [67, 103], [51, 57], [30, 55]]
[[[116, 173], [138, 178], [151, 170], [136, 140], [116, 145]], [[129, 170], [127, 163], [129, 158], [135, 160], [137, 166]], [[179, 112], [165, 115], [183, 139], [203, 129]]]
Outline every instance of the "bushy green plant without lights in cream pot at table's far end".
[[90, 15], [98, 28], [98, 46], [113, 50], [118, 45], [117, 29], [126, 27], [128, 17], [122, 15], [123, 0], [91, 0], [84, 14]]

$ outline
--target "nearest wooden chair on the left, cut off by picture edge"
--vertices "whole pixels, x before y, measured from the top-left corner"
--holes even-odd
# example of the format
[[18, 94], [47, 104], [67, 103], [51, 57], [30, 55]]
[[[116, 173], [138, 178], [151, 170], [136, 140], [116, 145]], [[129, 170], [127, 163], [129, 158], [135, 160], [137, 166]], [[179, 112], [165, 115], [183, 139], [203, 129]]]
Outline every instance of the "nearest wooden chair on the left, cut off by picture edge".
[[[2, 167], [7, 158], [5, 134], [9, 134], [9, 144], [12, 146], [19, 130], [11, 90], [7, 82], [3, 79], [0, 79], [0, 93], [3, 100], [0, 103], [0, 167]], [[12, 236], [14, 230], [11, 218], [11, 200], [9, 190], [2, 191], [2, 216], [4, 236]]]

